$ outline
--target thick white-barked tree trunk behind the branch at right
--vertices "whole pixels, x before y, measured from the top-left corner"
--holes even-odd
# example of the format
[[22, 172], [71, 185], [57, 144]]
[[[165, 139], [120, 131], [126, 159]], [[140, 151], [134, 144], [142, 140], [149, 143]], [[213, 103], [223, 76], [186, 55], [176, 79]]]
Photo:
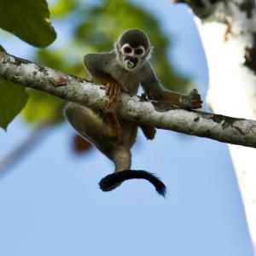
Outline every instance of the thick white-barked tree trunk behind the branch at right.
[[[210, 15], [207, 17], [201, 9], [195, 10], [193, 5], [192, 9], [199, 17], [196, 23], [207, 55], [207, 102], [214, 113], [256, 119], [255, 3], [251, 0], [219, 1], [215, 5], [204, 2], [208, 3], [205, 10]], [[255, 250], [256, 149], [230, 145], [230, 154]], [[256, 255], [256, 251], [254, 253]]]

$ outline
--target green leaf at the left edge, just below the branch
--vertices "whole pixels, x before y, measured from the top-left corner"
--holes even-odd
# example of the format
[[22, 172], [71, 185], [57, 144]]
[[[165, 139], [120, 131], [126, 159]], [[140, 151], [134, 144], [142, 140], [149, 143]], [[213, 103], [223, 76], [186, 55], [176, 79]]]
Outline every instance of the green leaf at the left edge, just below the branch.
[[25, 107], [27, 98], [25, 87], [0, 79], [0, 126], [4, 130]]

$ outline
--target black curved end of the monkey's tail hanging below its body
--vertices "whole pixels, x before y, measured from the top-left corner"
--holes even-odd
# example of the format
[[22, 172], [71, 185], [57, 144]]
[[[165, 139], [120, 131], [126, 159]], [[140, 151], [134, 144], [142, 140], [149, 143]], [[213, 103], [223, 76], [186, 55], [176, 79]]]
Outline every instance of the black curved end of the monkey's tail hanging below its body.
[[143, 178], [154, 185], [154, 189], [162, 196], [166, 196], [166, 185], [161, 182], [159, 177], [153, 173], [142, 170], [125, 170], [122, 172], [113, 172], [112, 174], [103, 177], [99, 185], [102, 191], [110, 191], [119, 186], [120, 183], [132, 178]]

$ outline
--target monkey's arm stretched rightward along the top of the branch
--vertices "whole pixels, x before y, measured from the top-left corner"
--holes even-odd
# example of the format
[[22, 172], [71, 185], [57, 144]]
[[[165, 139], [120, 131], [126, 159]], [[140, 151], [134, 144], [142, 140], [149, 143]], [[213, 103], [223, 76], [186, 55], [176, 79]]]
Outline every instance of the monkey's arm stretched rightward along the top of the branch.
[[170, 103], [179, 108], [201, 108], [201, 96], [197, 90], [190, 90], [188, 95], [182, 95], [164, 89], [149, 63], [145, 65], [143, 74], [142, 85], [148, 98], [159, 102]]

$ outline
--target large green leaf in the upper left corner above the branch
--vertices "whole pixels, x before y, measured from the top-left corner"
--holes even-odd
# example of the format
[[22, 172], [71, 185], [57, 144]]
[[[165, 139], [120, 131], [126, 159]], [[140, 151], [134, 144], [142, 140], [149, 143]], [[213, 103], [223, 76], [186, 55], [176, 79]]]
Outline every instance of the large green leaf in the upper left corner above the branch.
[[0, 26], [36, 47], [56, 38], [45, 0], [0, 0]]

